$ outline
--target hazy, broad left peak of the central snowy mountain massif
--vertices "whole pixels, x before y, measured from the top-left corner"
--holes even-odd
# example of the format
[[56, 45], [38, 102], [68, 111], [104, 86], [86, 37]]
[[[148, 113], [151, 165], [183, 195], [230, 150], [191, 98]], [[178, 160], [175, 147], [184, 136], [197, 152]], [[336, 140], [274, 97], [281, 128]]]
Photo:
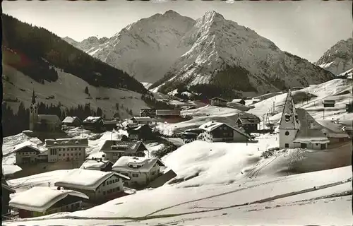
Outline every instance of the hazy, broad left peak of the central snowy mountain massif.
[[88, 54], [126, 71], [140, 82], [154, 83], [189, 51], [189, 44], [179, 42], [194, 23], [174, 11], [157, 13], [128, 25]]

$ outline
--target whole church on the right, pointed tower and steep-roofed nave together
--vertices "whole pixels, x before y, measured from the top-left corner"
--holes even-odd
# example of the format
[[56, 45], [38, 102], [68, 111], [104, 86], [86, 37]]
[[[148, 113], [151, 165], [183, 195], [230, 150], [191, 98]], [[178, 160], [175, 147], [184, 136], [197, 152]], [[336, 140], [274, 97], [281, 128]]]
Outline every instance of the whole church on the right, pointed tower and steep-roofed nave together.
[[280, 148], [324, 150], [330, 142], [345, 141], [347, 133], [332, 124], [318, 123], [305, 109], [296, 109], [291, 90], [288, 91], [280, 120]]

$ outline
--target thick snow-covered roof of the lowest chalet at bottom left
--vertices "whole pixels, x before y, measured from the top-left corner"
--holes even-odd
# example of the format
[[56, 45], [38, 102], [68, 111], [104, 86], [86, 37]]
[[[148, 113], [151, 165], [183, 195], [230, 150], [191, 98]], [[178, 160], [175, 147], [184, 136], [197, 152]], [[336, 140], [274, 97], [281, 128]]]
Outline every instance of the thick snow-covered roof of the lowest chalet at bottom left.
[[66, 196], [76, 196], [88, 199], [83, 193], [71, 190], [57, 190], [47, 186], [35, 186], [27, 191], [20, 192], [11, 198], [9, 206], [43, 213]]

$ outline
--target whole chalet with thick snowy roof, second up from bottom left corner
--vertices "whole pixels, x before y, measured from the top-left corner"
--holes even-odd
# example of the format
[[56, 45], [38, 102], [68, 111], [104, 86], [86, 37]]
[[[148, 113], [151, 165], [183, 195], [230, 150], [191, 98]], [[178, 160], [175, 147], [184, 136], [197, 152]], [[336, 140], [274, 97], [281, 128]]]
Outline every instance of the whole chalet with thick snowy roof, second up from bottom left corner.
[[116, 172], [71, 169], [54, 185], [82, 192], [89, 197], [90, 202], [101, 203], [122, 196], [124, 181], [129, 179]]

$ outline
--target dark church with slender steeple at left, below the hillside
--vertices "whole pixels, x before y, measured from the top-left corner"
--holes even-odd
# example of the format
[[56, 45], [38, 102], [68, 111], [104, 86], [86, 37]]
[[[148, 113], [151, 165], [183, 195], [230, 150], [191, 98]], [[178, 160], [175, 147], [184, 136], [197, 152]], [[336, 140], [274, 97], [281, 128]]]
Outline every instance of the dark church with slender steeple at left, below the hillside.
[[61, 120], [56, 114], [38, 114], [35, 92], [33, 91], [30, 105], [30, 130], [55, 133], [61, 131], [61, 124]]

